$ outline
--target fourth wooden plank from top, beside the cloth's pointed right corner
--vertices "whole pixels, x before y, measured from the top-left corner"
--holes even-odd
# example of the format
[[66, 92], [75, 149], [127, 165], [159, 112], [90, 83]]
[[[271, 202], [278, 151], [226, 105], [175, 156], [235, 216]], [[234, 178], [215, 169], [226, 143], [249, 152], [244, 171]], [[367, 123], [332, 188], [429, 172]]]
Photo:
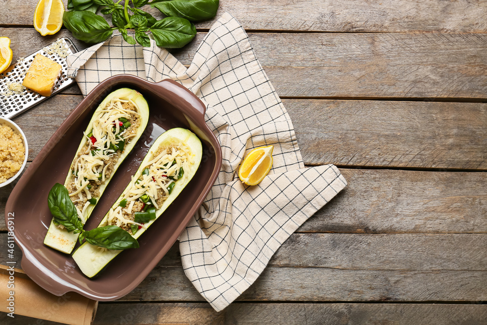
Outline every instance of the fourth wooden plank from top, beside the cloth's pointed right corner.
[[[487, 232], [487, 173], [340, 171], [348, 186], [299, 232]], [[0, 230], [12, 188], [0, 188]]]

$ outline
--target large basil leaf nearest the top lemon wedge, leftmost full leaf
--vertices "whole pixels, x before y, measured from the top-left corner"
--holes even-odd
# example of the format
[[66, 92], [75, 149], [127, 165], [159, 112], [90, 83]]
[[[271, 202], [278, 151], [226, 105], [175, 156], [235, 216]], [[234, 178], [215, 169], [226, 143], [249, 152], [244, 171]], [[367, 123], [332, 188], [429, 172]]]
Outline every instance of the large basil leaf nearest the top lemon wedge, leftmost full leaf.
[[62, 21], [75, 38], [87, 43], [104, 41], [113, 32], [103, 17], [91, 11], [65, 11]]

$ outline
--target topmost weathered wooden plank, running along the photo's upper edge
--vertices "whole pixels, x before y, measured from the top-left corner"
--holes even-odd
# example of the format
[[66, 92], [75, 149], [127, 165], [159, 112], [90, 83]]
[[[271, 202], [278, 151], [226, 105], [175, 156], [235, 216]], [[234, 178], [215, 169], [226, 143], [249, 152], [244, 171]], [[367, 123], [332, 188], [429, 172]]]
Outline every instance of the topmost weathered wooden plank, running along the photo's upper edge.
[[[67, 1], [63, 1], [66, 5]], [[32, 25], [37, 0], [5, 1], [0, 25]], [[144, 7], [155, 17], [156, 9]], [[196, 24], [210, 28], [225, 12], [234, 15], [246, 29], [333, 32], [485, 32], [486, 3], [483, 0], [407, 1], [383, 0], [221, 0], [217, 17]], [[16, 17], [13, 21], [12, 17]], [[264, 19], [265, 18], [265, 19]]]

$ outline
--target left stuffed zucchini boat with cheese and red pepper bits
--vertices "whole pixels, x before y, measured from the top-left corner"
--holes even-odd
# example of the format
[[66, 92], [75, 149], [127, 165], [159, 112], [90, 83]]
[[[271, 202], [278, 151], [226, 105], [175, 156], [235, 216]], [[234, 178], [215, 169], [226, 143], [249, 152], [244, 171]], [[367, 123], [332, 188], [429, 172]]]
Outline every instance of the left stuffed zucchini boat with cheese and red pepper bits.
[[[148, 121], [147, 101], [129, 88], [112, 92], [94, 111], [64, 182], [83, 224]], [[69, 254], [78, 236], [53, 218], [44, 244]]]

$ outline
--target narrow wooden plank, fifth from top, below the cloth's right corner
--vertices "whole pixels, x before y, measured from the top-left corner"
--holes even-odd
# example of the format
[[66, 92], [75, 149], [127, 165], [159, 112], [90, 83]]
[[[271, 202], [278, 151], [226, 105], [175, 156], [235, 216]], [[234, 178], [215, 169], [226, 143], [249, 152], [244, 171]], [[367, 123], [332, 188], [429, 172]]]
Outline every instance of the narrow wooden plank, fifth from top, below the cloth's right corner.
[[[43, 239], [37, 238], [41, 245]], [[0, 264], [9, 260], [7, 249], [7, 234], [0, 234]], [[20, 249], [15, 251], [15, 260], [20, 261]], [[179, 243], [158, 266], [182, 266]], [[487, 234], [292, 234], [268, 266], [487, 271]]]

